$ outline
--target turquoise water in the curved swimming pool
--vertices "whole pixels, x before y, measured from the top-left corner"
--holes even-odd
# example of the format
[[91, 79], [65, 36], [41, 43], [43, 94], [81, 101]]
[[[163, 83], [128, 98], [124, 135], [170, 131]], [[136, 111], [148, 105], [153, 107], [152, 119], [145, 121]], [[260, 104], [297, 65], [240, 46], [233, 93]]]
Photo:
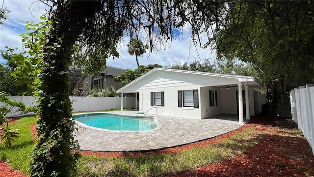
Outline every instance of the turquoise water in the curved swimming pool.
[[89, 126], [107, 130], [142, 131], [157, 127], [153, 118], [138, 118], [105, 113], [83, 114], [74, 119]]

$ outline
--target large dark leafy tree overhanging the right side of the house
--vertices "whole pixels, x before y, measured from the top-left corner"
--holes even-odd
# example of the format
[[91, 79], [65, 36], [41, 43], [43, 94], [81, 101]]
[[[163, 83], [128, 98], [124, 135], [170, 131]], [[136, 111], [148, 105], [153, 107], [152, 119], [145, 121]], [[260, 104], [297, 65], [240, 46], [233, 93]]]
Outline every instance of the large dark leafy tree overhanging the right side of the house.
[[269, 114], [286, 91], [314, 81], [314, 4], [310, 1], [235, 1], [216, 35], [219, 59], [252, 63], [269, 89]]

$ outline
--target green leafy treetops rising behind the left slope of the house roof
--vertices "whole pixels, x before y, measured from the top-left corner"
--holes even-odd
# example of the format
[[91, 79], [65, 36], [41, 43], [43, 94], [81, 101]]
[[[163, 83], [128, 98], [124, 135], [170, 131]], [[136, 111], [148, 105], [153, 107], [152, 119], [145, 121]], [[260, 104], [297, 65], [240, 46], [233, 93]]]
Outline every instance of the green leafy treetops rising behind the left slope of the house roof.
[[139, 65], [135, 70], [127, 69], [125, 73], [119, 74], [118, 76], [113, 77], [113, 79], [115, 82], [120, 83], [121, 87], [124, 87], [156, 67], [162, 68], [160, 64], [149, 64], [147, 66]]

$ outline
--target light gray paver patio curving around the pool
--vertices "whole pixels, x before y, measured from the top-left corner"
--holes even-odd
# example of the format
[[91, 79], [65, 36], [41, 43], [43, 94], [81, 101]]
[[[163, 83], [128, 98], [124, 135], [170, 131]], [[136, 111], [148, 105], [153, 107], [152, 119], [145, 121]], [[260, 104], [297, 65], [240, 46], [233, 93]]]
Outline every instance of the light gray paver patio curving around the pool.
[[[143, 116], [138, 115], [137, 111], [105, 113]], [[146, 114], [145, 116], [149, 117], [154, 115]], [[78, 140], [81, 150], [154, 150], [184, 145], [235, 130], [242, 125], [240, 125], [238, 120], [234, 118], [236, 117], [224, 115], [220, 116], [220, 118], [207, 119], [158, 116], [155, 117], [157, 128], [137, 132], [105, 130], [77, 123], [78, 132], [76, 133], [76, 139]]]

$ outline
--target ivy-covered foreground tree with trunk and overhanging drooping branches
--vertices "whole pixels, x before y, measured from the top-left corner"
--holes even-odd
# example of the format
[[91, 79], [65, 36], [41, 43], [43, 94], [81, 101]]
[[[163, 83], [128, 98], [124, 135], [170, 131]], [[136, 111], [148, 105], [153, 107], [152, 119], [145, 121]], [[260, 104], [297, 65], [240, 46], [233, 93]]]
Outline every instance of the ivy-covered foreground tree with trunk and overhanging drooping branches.
[[[73, 138], [69, 66], [85, 66], [85, 72], [104, 69], [108, 57], [118, 57], [116, 44], [125, 33], [145, 29], [151, 49], [155, 34], [172, 36], [175, 1], [49, 0], [49, 18], [35, 27], [44, 36], [33, 40], [30, 50], [41, 63], [38, 140], [33, 153], [32, 176], [73, 176], [78, 143]], [[154, 8], [153, 8], [154, 7]], [[168, 18], [169, 17], [169, 18]], [[32, 36], [32, 33], [29, 35]], [[40, 48], [36, 48], [40, 46]], [[73, 47], [79, 46], [73, 54]], [[34, 48], [35, 47], [35, 48]], [[76, 55], [84, 56], [80, 59]], [[74, 60], [73, 59], [74, 56]]]

